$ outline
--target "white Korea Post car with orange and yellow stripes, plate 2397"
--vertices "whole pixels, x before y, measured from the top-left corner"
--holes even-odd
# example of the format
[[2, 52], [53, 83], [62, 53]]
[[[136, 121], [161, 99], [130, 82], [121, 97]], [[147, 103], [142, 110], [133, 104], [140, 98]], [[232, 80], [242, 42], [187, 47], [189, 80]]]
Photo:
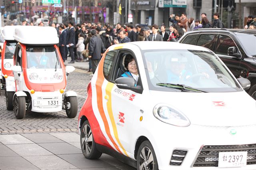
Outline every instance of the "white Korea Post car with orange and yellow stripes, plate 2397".
[[112, 45], [78, 117], [82, 153], [107, 153], [138, 170], [256, 170], [248, 88], [204, 47]]

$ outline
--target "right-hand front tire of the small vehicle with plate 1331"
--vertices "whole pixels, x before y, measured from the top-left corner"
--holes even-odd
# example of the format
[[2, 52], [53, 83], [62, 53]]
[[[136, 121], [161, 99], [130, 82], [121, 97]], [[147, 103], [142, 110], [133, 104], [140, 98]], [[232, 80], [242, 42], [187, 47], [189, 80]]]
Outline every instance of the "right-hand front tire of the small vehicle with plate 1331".
[[[74, 118], [77, 115], [77, 98], [76, 96], [70, 96], [66, 97], [65, 99], [65, 110], [66, 114], [69, 118]], [[68, 108], [68, 105], [70, 104], [70, 108]]]

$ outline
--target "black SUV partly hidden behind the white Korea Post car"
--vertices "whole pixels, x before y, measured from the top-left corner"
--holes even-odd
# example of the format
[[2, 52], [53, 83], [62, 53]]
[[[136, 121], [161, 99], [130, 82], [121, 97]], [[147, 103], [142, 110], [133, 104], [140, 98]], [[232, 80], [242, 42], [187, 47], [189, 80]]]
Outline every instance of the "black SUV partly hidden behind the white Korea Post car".
[[206, 28], [186, 32], [179, 43], [199, 45], [216, 53], [236, 78], [251, 81], [247, 93], [256, 100], [256, 30]]

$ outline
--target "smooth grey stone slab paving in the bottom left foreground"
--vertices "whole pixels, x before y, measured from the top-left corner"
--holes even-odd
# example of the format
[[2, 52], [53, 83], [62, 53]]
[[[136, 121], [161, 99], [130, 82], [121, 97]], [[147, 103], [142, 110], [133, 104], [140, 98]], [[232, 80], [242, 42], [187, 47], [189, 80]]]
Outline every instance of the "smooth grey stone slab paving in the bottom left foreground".
[[77, 133], [0, 135], [0, 170], [133, 170], [102, 154], [84, 158]]

